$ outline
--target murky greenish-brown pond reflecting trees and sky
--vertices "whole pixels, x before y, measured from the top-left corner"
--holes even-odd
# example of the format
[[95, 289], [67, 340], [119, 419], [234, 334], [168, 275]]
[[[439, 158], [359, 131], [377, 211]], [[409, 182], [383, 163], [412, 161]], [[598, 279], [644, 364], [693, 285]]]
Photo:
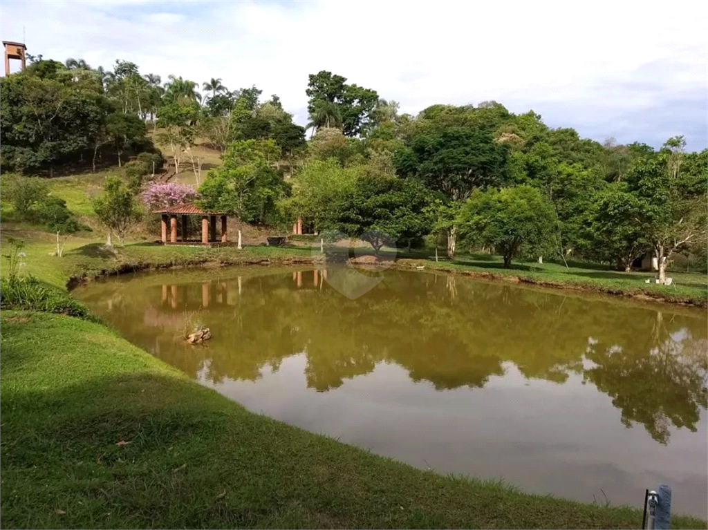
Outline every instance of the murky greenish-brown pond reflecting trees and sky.
[[[426, 271], [183, 270], [75, 296], [256, 413], [419, 468], [707, 512], [705, 311]], [[185, 329], [212, 340], [188, 345]]]

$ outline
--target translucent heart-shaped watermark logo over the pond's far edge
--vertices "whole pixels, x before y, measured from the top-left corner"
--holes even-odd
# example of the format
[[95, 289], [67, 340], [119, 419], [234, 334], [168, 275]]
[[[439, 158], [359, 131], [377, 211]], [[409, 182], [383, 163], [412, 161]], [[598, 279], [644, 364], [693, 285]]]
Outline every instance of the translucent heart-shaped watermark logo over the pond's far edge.
[[327, 231], [312, 242], [311, 253], [314, 258], [324, 255], [328, 263], [337, 264], [322, 275], [323, 280], [348, 299], [355, 300], [384, 280], [384, 271], [396, 257], [396, 243], [380, 231], [366, 232], [359, 238]]

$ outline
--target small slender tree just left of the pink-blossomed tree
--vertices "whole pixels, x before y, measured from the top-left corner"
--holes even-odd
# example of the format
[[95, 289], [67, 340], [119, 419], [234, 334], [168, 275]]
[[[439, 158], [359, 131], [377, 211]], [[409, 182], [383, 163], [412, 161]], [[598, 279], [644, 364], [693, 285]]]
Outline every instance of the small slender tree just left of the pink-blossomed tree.
[[98, 220], [108, 229], [109, 247], [113, 246], [113, 232], [122, 245], [127, 232], [142, 217], [135, 196], [118, 177], [105, 179], [103, 192], [93, 199], [92, 205]]

